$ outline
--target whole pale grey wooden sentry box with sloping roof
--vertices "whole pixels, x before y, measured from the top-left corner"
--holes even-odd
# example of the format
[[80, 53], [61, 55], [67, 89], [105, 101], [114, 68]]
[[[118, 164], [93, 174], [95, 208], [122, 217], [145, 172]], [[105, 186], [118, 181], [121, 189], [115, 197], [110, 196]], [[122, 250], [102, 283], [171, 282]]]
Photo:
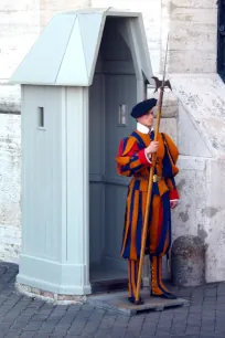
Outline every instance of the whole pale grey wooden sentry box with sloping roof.
[[99, 9], [56, 14], [12, 75], [22, 85], [20, 285], [85, 295], [127, 276], [129, 179], [115, 157], [151, 76], [141, 14]]

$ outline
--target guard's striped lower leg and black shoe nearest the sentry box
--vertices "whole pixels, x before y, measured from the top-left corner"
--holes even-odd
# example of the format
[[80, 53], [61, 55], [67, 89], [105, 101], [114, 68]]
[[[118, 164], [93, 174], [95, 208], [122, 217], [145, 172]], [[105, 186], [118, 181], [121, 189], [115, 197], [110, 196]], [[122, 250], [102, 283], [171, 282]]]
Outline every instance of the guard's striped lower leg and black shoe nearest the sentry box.
[[136, 303], [138, 268], [139, 268], [139, 260], [138, 261], [128, 260], [128, 300], [132, 304], [141, 305], [143, 304], [141, 297], [139, 297], [139, 302]]

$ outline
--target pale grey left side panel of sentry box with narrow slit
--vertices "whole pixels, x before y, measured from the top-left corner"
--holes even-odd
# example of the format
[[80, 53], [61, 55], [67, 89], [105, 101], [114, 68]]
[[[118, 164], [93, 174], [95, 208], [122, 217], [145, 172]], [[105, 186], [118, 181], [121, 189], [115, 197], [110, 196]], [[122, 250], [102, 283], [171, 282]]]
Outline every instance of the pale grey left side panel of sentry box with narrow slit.
[[[60, 258], [62, 168], [62, 89], [25, 86], [22, 114], [22, 250], [45, 260]], [[38, 107], [44, 107], [44, 128], [39, 128]], [[54, 224], [56, 231], [52, 231]], [[50, 242], [52, 243], [50, 245]]]

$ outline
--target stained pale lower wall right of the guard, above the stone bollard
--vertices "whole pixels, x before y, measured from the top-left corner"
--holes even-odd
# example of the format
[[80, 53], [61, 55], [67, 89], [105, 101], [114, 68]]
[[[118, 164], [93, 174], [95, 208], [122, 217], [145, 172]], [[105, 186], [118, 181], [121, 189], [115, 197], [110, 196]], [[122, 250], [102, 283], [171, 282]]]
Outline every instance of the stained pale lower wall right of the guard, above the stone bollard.
[[206, 281], [225, 281], [225, 86], [218, 75], [182, 75], [172, 83], [182, 151], [174, 235], [199, 234], [206, 244]]

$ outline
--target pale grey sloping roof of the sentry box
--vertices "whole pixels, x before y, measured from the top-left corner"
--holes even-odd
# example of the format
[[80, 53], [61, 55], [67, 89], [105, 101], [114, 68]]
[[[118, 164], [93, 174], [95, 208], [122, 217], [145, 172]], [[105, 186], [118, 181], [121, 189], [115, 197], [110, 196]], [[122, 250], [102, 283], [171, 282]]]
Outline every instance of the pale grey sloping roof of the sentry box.
[[152, 70], [142, 15], [115, 9], [86, 9], [54, 15], [10, 83], [90, 86], [109, 17], [124, 18], [120, 33], [131, 51], [136, 74], [143, 73], [150, 83]]

